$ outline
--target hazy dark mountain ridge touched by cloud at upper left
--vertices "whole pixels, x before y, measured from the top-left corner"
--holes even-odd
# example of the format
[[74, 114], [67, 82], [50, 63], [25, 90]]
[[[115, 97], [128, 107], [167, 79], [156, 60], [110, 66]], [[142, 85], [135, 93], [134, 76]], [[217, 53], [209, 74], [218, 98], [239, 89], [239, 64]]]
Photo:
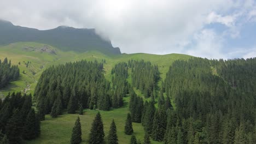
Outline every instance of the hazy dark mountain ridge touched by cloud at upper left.
[[121, 53], [118, 47], [112, 46], [110, 40], [104, 40], [96, 34], [95, 29], [60, 26], [39, 31], [34, 28], [14, 26], [11, 22], [0, 20], [0, 45], [20, 41], [48, 44], [64, 51], [97, 50], [110, 54]]

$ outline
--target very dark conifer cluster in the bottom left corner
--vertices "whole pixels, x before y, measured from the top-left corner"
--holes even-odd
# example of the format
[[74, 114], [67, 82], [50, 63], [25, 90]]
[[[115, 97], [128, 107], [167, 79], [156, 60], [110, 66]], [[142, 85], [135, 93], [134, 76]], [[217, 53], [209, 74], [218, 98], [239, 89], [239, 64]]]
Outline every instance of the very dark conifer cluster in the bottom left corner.
[[0, 99], [0, 143], [19, 144], [40, 135], [40, 121], [31, 94], [12, 93]]

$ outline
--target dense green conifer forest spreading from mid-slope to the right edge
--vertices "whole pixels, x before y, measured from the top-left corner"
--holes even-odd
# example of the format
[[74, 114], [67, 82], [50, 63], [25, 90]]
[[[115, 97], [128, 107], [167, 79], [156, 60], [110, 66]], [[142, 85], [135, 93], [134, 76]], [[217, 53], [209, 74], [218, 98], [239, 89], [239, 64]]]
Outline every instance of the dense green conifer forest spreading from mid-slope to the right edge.
[[[138, 143], [132, 122], [144, 127], [144, 143], [255, 143], [256, 58], [175, 61], [158, 86], [157, 65], [133, 61], [116, 64], [112, 82], [104, 77], [103, 63], [80, 61], [46, 69], [35, 89], [38, 117], [83, 109], [110, 110], [130, 96], [125, 134]], [[131, 71], [131, 77], [129, 76]], [[131, 78], [131, 83], [127, 81]], [[138, 89], [142, 96], [135, 92]], [[140, 94], [141, 95], [141, 94]], [[104, 140], [100, 113], [92, 123], [89, 143]], [[3, 127], [3, 126], [2, 126]], [[102, 128], [101, 130], [95, 130]], [[78, 118], [71, 143], [81, 141]], [[95, 131], [100, 132], [96, 133]], [[107, 141], [117, 143], [114, 120]], [[101, 137], [96, 142], [94, 137]], [[106, 142], [106, 141], [105, 141]]]

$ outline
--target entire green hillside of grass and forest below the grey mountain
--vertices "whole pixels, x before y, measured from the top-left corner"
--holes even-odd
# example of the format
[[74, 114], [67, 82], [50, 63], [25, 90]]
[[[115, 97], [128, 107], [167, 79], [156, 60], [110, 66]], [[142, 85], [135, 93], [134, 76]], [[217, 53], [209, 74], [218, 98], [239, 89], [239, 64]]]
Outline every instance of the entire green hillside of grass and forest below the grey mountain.
[[[39, 43], [1, 46], [0, 58], [6, 56], [22, 72], [0, 94], [34, 93], [33, 107], [44, 120], [40, 136], [25, 143], [68, 143], [78, 105], [83, 113], [79, 115], [82, 143], [89, 142], [97, 112], [106, 136], [114, 119], [119, 143], [131, 139], [124, 131], [127, 113], [131, 113], [137, 139], [143, 140], [147, 131], [154, 144], [235, 143], [241, 136], [240, 143], [256, 140], [255, 58], [223, 61], [179, 54], [106, 55], [63, 51]], [[4, 107], [20, 107], [20, 94], [12, 95]], [[3, 108], [1, 116], [8, 113]]]

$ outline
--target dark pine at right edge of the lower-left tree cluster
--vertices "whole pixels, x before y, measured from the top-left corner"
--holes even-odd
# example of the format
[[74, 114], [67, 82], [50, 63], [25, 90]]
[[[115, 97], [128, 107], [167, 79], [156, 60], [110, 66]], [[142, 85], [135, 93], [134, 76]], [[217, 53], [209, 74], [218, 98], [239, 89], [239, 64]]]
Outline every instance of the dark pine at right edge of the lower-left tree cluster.
[[32, 140], [36, 138], [36, 113], [31, 109], [27, 115], [24, 127], [23, 137], [25, 140]]

